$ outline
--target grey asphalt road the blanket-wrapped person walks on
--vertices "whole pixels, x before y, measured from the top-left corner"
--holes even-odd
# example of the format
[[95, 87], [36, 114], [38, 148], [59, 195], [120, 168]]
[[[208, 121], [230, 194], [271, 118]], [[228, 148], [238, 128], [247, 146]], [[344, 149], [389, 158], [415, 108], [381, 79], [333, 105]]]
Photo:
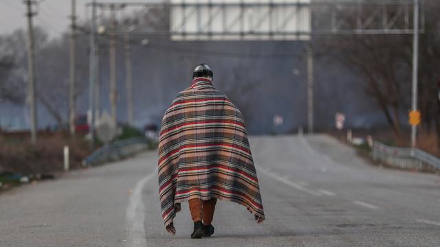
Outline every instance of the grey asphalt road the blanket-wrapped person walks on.
[[0, 246], [440, 246], [440, 177], [380, 169], [330, 137], [253, 137], [266, 220], [218, 202], [189, 239], [162, 223], [156, 152], [0, 194]]

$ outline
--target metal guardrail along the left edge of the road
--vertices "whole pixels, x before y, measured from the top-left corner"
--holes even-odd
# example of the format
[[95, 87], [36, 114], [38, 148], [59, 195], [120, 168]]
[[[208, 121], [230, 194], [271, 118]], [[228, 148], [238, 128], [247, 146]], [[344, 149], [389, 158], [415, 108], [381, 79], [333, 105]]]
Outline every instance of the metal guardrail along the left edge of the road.
[[145, 138], [132, 138], [123, 141], [115, 141], [99, 148], [83, 160], [83, 165], [93, 165], [107, 161], [117, 161], [121, 158], [135, 154], [148, 148], [148, 140]]

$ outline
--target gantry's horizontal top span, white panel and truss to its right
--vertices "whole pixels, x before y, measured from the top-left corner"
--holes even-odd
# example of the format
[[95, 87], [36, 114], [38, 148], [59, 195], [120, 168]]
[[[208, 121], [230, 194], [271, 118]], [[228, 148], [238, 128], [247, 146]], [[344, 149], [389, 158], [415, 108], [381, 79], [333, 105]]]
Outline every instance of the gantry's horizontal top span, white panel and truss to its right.
[[[412, 0], [181, 3], [171, 5], [173, 12], [181, 14], [172, 15], [179, 18], [171, 21], [170, 32], [174, 39], [208, 40], [304, 40], [311, 34], [412, 34], [413, 8]], [[421, 30], [423, 19], [422, 15]], [[191, 21], [197, 27], [188, 30]], [[214, 23], [221, 23], [221, 27]]]

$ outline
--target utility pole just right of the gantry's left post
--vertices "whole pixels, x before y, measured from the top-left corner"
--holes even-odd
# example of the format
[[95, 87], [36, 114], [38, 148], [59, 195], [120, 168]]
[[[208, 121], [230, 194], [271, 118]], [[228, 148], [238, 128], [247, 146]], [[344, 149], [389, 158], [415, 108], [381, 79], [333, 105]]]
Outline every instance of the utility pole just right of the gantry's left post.
[[118, 99], [118, 89], [116, 88], [116, 40], [115, 40], [115, 5], [110, 5], [110, 34], [109, 34], [109, 58], [110, 58], [110, 105], [111, 105], [111, 122], [113, 126], [117, 126], [116, 122], [116, 104]]

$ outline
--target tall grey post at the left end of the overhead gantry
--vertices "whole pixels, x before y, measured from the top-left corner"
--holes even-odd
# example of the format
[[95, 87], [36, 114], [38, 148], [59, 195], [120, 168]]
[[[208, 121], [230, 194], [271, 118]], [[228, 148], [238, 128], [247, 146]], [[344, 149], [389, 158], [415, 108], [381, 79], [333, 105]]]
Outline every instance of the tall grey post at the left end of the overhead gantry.
[[90, 27], [90, 71], [89, 71], [89, 110], [90, 114], [90, 148], [95, 147], [95, 100], [94, 91], [96, 83], [96, 0], [91, 3], [91, 27]]

